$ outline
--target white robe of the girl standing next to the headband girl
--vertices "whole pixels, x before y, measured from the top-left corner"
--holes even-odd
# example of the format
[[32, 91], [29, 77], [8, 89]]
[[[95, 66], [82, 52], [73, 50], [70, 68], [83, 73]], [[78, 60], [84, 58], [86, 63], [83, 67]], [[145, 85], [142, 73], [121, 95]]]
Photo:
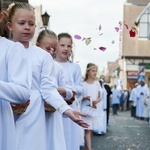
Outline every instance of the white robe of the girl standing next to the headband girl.
[[[78, 64], [72, 62], [59, 62], [69, 79], [69, 84], [72, 86], [72, 90], [77, 93], [77, 98], [84, 93], [81, 68]], [[72, 108], [79, 110], [78, 99], [70, 105]], [[67, 150], [79, 150], [79, 126], [71, 121], [69, 118], [63, 118], [65, 140]]]

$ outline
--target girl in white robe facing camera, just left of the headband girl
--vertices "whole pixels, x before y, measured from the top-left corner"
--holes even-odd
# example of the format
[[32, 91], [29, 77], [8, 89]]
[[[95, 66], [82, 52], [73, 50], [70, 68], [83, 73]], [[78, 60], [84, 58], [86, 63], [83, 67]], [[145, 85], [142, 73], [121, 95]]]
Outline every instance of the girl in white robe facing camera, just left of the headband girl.
[[[71, 35], [68, 33], [60, 33], [58, 35], [55, 61], [63, 66], [67, 79], [69, 80], [69, 85], [72, 87], [72, 91], [76, 92], [76, 99], [70, 106], [79, 110], [77, 98], [83, 94], [84, 89], [80, 66], [69, 61], [70, 56], [72, 56], [72, 45], [73, 41]], [[63, 124], [67, 150], [79, 150], [79, 126], [68, 118], [63, 118]]]

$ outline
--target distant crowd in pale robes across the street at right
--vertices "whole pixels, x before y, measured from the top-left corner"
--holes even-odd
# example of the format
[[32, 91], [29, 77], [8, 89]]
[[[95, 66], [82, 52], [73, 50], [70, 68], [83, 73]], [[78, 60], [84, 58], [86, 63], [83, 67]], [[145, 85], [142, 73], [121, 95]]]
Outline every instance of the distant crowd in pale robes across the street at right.
[[112, 112], [117, 115], [117, 111], [131, 111], [131, 117], [150, 121], [150, 89], [145, 80], [141, 79], [134, 84], [132, 89], [120, 90], [116, 85], [112, 88], [111, 96]]

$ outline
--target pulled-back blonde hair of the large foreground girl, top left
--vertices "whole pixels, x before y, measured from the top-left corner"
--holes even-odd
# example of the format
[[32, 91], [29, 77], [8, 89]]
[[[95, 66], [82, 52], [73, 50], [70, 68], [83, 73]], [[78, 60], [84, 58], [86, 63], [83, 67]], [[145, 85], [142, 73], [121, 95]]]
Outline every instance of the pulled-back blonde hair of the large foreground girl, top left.
[[34, 12], [34, 8], [28, 3], [15, 3], [11, 9], [9, 9], [9, 22], [12, 22], [12, 18], [18, 9], [26, 9]]

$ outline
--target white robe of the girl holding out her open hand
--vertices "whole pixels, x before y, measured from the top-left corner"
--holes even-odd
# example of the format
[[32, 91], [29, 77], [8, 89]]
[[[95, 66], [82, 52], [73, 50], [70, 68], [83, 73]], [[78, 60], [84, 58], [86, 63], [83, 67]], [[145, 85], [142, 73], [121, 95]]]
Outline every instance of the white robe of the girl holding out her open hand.
[[44, 100], [60, 113], [70, 107], [59, 95], [54, 84], [52, 57], [31, 44], [26, 50], [32, 64], [32, 86], [30, 105], [16, 120], [17, 150], [47, 150]]

